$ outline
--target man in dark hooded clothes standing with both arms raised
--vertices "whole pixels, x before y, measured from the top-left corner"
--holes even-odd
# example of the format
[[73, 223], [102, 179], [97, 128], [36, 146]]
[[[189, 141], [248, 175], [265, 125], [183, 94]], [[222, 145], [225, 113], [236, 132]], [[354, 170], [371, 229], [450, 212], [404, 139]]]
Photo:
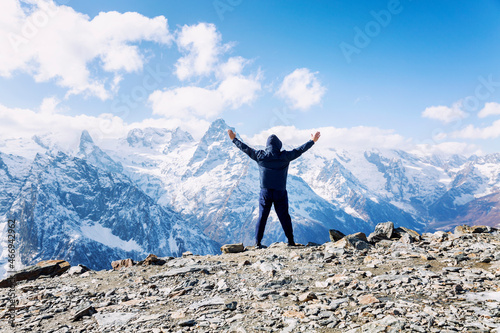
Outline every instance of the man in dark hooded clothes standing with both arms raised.
[[282, 143], [276, 135], [267, 139], [265, 150], [250, 148], [236, 138], [232, 130], [228, 130], [229, 138], [245, 154], [250, 156], [259, 165], [260, 171], [260, 198], [259, 198], [259, 220], [255, 227], [255, 247], [264, 248], [262, 238], [266, 228], [267, 218], [274, 203], [274, 210], [278, 215], [281, 227], [288, 238], [288, 246], [295, 246], [293, 239], [292, 219], [288, 213], [288, 193], [286, 191], [286, 178], [290, 161], [298, 158], [311, 148], [320, 137], [320, 133], [311, 134], [311, 140], [293, 150], [281, 150]]

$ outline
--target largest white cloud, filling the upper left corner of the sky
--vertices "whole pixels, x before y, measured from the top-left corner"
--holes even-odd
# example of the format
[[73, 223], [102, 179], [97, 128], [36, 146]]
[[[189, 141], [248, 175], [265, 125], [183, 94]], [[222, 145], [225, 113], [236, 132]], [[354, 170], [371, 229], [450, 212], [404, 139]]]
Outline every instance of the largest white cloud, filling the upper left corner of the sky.
[[[26, 72], [37, 82], [55, 80], [68, 94], [109, 98], [117, 72], [142, 69], [143, 55], [134, 43], [169, 44], [172, 39], [163, 16], [105, 12], [90, 19], [52, 0], [23, 6], [1, 0], [1, 6], [0, 76]], [[108, 76], [91, 73], [89, 63], [95, 60]]]

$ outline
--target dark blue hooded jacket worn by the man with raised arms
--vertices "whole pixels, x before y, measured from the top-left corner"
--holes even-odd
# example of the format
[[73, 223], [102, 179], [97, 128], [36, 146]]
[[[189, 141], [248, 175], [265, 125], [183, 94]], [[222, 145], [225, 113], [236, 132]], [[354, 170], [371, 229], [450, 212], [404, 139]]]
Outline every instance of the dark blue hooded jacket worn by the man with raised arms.
[[293, 150], [281, 150], [282, 143], [274, 134], [267, 139], [265, 150], [250, 148], [238, 138], [234, 138], [233, 143], [259, 164], [260, 187], [273, 190], [286, 190], [290, 161], [300, 157], [314, 145], [314, 141], [309, 140]]

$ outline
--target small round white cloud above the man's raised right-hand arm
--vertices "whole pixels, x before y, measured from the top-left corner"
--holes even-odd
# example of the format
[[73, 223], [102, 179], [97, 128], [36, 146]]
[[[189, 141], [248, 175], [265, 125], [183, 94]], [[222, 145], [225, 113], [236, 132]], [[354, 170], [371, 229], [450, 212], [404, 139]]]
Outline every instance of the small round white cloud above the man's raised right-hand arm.
[[277, 96], [284, 98], [292, 109], [306, 110], [321, 102], [326, 88], [307, 68], [298, 68], [283, 79]]

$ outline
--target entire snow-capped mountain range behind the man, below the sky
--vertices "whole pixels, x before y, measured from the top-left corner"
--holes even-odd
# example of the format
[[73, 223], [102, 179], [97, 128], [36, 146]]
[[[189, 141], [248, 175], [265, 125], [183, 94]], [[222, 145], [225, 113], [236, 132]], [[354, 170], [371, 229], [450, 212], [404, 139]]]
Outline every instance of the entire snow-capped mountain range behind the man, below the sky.
[[[206, 254], [253, 243], [257, 164], [218, 119], [201, 140], [181, 130], [134, 129], [96, 145], [87, 131], [71, 150], [54, 135], [0, 146], [0, 230], [20, 221], [22, 263], [60, 258], [104, 268], [147, 253]], [[23, 151], [12, 147], [22, 145]], [[263, 147], [255, 147], [263, 148]], [[292, 147], [284, 147], [290, 149]], [[290, 165], [296, 241], [328, 240], [328, 229], [371, 232], [392, 221], [419, 231], [498, 224], [500, 154], [417, 155], [313, 146]], [[274, 212], [263, 242], [285, 236]], [[2, 234], [2, 256], [6, 258]], [[107, 266], [106, 266], [107, 267]]]

